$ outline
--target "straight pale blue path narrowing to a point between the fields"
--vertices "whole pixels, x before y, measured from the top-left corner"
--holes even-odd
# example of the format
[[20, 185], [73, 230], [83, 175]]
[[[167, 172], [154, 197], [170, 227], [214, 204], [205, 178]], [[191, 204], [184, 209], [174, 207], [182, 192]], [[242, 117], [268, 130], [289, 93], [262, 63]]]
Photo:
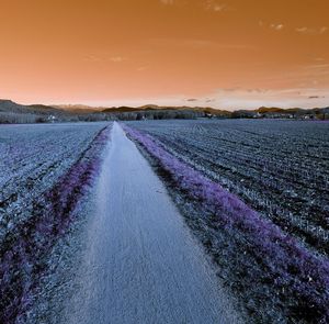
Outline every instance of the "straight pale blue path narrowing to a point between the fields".
[[69, 324], [240, 323], [166, 188], [114, 124]]

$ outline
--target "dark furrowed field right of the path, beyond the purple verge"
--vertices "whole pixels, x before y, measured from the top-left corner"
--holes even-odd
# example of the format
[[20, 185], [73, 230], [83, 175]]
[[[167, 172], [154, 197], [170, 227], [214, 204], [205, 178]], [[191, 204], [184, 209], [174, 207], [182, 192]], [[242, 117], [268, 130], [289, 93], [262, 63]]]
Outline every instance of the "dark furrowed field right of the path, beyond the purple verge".
[[329, 126], [284, 121], [132, 123], [310, 248], [329, 253]]

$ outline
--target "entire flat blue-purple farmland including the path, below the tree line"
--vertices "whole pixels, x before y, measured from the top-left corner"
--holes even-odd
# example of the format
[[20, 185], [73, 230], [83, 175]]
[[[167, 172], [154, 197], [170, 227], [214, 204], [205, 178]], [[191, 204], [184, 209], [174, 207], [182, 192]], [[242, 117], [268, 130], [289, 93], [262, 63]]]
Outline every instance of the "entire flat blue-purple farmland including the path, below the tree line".
[[0, 323], [328, 323], [328, 220], [327, 122], [2, 125]]

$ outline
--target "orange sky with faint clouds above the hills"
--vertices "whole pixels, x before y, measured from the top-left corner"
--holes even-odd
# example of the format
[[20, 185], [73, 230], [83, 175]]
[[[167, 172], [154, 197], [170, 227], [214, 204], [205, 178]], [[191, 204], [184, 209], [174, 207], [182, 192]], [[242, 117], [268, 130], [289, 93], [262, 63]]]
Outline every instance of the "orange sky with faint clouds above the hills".
[[0, 0], [0, 98], [329, 105], [328, 0]]

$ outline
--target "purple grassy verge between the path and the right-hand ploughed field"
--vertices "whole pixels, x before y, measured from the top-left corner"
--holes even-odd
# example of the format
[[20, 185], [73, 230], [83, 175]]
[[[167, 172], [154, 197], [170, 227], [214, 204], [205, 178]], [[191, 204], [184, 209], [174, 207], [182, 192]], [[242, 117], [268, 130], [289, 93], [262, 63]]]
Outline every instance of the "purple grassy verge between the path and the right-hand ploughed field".
[[[329, 321], [326, 257], [309, 250], [235, 194], [178, 159], [162, 142], [136, 129], [125, 130], [157, 161], [160, 175], [166, 175], [171, 188], [183, 192], [197, 210], [195, 220], [191, 220], [189, 203], [180, 201], [182, 209], [188, 205], [185, 215], [194, 230], [203, 232], [203, 243], [214, 259], [226, 267], [219, 271], [227, 273], [224, 280], [245, 297], [246, 304], [254, 303], [250, 306], [253, 314], [273, 301], [270, 308], [277, 316], [283, 313], [285, 320]], [[273, 316], [275, 313], [272, 320]]]

